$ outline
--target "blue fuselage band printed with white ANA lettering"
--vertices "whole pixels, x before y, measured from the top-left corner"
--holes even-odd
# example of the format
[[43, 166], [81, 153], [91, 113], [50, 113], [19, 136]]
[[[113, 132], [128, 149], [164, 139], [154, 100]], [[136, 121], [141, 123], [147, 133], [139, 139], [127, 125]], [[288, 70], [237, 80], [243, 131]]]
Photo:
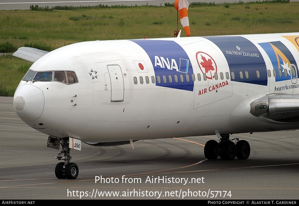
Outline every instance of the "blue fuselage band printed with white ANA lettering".
[[[174, 41], [150, 39], [130, 41], [141, 46], [152, 61], [156, 86], [193, 91], [194, 82], [191, 78], [191, 74], [193, 74], [192, 64], [187, 53], [179, 44]], [[190, 78], [188, 82], [186, 74]], [[169, 75], [172, 77], [172, 82], [169, 82]], [[175, 82], [174, 75], [177, 75], [178, 82]], [[183, 82], [181, 82], [180, 75], [183, 75]], [[157, 82], [157, 76], [161, 78], [160, 83]], [[163, 81], [163, 76], [166, 77], [166, 83]]]

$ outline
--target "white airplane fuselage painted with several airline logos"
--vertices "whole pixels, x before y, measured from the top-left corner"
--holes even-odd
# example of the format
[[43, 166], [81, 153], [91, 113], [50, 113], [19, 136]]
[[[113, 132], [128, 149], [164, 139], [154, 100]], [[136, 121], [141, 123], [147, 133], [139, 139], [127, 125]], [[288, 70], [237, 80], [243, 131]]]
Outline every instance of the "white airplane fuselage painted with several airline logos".
[[74, 71], [78, 82], [54, 81], [54, 73], [52, 81], [22, 80], [15, 110], [38, 131], [83, 142], [299, 129], [296, 121], [250, 113], [251, 103], [266, 95], [299, 94], [298, 37], [257, 34], [68, 45], [45, 54], [30, 70]]

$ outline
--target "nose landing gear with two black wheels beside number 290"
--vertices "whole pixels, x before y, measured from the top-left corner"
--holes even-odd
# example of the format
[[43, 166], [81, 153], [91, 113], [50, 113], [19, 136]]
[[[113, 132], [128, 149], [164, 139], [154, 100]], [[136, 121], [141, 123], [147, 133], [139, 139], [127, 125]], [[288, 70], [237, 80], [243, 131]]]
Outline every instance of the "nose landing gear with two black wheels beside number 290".
[[58, 160], [64, 160], [55, 167], [55, 175], [58, 179], [76, 179], [79, 174], [79, 168], [76, 163], [70, 162], [70, 148], [68, 138], [61, 138], [60, 144], [62, 151], [55, 157]]

